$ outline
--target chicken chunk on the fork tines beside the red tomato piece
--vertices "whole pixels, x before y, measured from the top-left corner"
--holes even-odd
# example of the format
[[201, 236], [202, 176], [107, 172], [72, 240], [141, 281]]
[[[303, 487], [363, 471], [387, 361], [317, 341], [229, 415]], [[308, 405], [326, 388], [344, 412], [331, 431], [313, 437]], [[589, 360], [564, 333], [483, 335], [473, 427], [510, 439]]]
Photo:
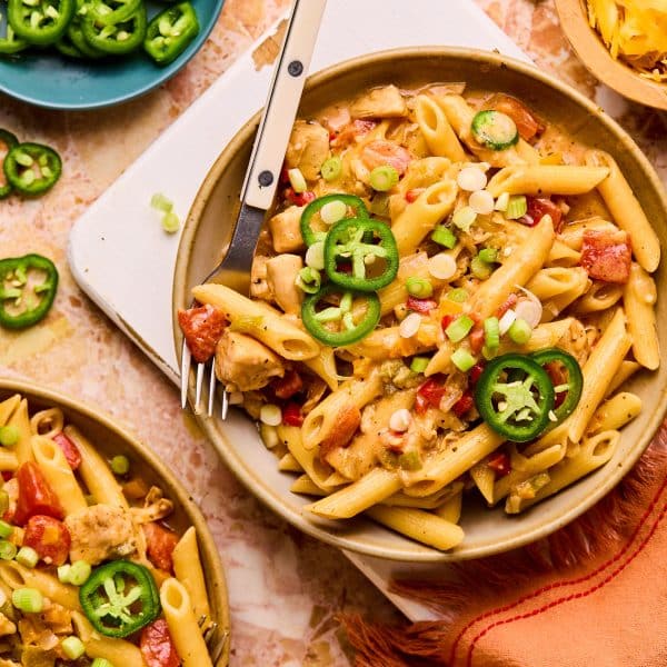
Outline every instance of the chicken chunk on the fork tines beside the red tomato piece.
[[216, 375], [229, 389], [261, 389], [281, 378], [285, 366], [278, 355], [250, 336], [227, 329], [216, 349]]

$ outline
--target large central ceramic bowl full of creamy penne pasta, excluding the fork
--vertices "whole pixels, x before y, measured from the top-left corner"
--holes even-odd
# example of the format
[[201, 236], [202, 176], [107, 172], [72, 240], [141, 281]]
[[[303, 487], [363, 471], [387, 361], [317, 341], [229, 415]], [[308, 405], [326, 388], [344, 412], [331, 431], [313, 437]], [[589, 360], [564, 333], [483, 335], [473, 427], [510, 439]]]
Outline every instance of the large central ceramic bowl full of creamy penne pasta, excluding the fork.
[[182, 327], [236, 406], [200, 424], [253, 492], [339, 547], [447, 560], [544, 536], [627, 472], [663, 410], [667, 213], [617, 125], [490, 53], [326, 70], [246, 297], [198, 282], [253, 130], [203, 183], [175, 282], [177, 347]]

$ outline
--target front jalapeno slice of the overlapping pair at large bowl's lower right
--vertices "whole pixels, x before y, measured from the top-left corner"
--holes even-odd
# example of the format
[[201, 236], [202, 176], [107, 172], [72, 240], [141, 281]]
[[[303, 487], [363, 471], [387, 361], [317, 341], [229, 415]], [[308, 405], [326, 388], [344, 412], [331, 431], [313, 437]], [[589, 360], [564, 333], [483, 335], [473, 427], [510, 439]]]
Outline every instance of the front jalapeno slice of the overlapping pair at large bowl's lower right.
[[514, 442], [527, 442], [549, 426], [554, 385], [530, 357], [502, 355], [489, 361], [479, 376], [475, 406], [496, 432]]

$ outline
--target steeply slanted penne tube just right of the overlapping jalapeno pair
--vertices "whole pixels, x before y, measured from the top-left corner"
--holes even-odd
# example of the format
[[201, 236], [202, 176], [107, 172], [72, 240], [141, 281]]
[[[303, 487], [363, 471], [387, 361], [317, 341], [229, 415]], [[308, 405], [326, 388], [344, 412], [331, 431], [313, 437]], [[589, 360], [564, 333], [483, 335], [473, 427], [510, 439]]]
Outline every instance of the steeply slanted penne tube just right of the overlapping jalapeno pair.
[[578, 442], [584, 436], [586, 426], [630, 349], [631, 339], [626, 332], [625, 319], [625, 312], [619, 308], [583, 368], [581, 398], [567, 419], [568, 438], [573, 442]]

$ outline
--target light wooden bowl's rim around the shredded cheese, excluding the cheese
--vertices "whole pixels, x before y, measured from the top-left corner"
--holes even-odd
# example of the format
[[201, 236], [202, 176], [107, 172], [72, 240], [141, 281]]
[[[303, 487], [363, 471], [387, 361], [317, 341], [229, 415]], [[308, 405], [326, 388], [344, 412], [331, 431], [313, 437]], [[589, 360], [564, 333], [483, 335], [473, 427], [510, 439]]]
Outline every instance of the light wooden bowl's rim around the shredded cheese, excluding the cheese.
[[630, 100], [667, 110], [667, 83], [650, 81], [623, 60], [614, 60], [589, 26], [584, 0], [556, 0], [556, 9], [567, 39], [596, 78]]

